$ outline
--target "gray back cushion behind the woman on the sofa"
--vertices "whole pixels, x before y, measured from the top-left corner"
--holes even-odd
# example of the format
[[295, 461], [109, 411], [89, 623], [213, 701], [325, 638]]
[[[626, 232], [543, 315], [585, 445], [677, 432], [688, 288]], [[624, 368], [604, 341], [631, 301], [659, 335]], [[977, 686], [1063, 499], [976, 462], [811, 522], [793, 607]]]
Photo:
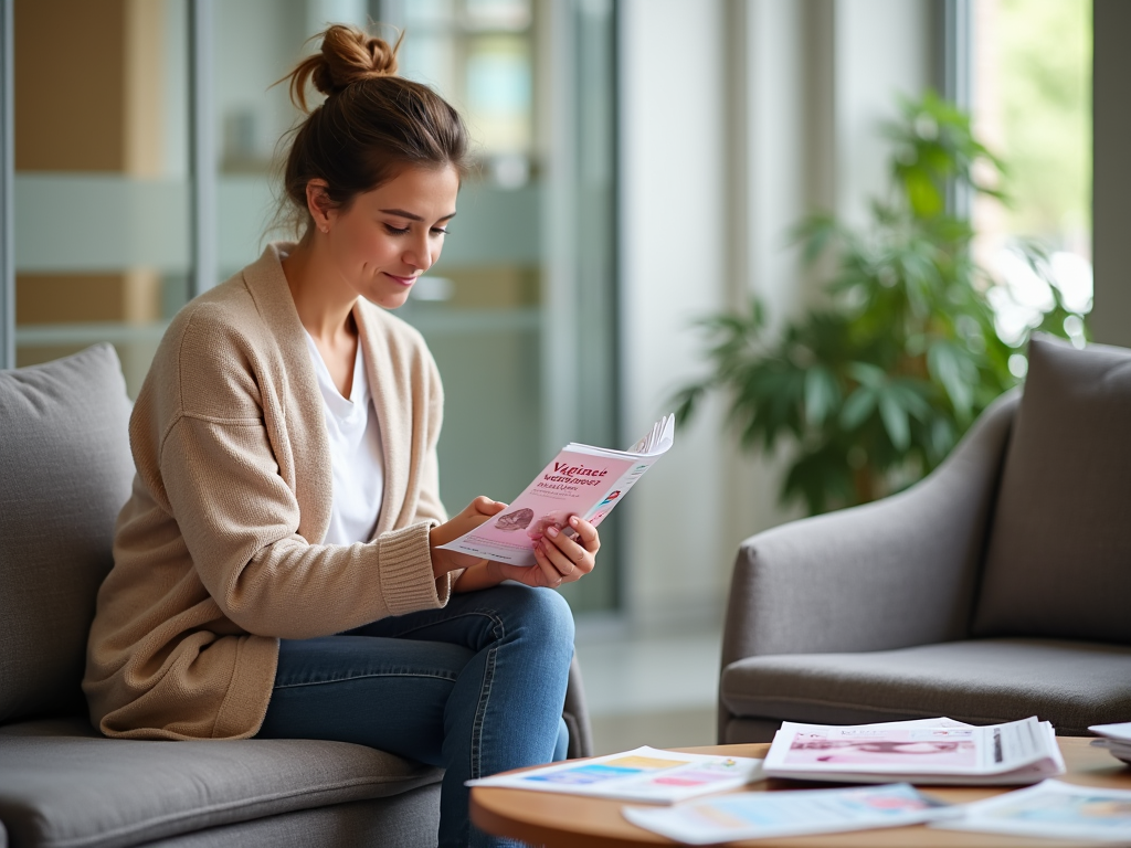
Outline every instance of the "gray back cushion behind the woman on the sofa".
[[0, 371], [0, 722], [83, 709], [87, 630], [133, 476], [118, 355]]

